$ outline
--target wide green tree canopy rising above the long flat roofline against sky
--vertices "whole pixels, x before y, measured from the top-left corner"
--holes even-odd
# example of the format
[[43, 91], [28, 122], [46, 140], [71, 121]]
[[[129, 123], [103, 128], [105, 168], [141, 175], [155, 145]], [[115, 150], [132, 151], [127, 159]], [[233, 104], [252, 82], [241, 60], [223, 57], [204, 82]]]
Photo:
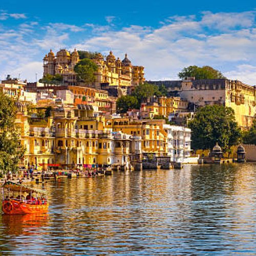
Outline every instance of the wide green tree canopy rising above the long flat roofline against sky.
[[216, 70], [210, 66], [189, 66], [184, 68], [179, 74], [180, 79], [186, 77], [195, 77], [196, 79], [219, 79], [226, 78], [219, 70]]

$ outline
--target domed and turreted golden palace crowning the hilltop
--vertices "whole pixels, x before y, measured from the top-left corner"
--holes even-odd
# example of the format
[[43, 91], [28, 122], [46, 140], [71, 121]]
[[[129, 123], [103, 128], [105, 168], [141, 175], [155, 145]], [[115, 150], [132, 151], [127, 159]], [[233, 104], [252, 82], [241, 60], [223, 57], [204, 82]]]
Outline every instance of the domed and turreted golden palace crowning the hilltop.
[[100, 89], [101, 84], [108, 84], [109, 86], [127, 89], [145, 81], [143, 66], [133, 66], [131, 60], [127, 58], [127, 54], [121, 61], [119, 57], [116, 58], [113, 55], [112, 51], [106, 59], [100, 53], [97, 54], [95, 59], [92, 59], [98, 66], [93, 84], [81, 84], [76, 80], [74, 67], [79, 61], [79, 54], [76, 49], [72, 53], [66, 49], [61, 49], [56, 56], [51, 50], [46, 54], [43, 61], [44, 76], [60, 74], [63, 77], [63, 82], [69, 86], [83, 85]]

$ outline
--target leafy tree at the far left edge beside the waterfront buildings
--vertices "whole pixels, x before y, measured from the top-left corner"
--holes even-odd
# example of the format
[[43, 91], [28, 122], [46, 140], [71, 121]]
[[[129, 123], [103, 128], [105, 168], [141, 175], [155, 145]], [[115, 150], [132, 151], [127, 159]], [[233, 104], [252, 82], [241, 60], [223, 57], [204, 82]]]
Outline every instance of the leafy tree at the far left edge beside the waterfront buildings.
[[0, 171], [15, 173], [25, 148], [20, 144], [19, 130], [15, 126], [16, 107], [14, 101], [0, 92]]

